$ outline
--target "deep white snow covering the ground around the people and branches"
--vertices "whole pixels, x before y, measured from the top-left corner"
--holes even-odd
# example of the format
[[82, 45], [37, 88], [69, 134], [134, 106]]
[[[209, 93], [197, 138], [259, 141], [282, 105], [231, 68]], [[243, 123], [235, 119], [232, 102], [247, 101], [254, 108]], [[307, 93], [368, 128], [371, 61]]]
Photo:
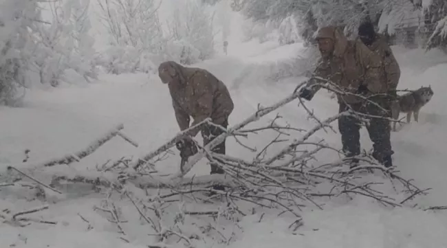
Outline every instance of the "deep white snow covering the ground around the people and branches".
[[[237, 18], [239, 17], [235, 16]], [[258, 104], [265, 107], [286, 98], [297, 84], [305, 80], [293, 77], [274, 82], [270, 75], [277, 73], [278, 65], [288, 63], [290, 59], [305, 52], [300, 43], [285, 46], [279, 46], [274, 41], [262, 44], [257, 41], [243, 43], [241, 32], [237, 32], [236, 27], [239, 27], [237, 23], [232, 25], [232, 29], [236, 31], [228, 38], [228, 56], [220, 54], [194, 65], [208, 69], [226, 82], [235, 101], [230, 126], [256, 112]], [[0, 216], [10, 221], [0, 225], [0, 243], [2, 247], [17, 248], [447, 247], [446, 211], [426, 210], [428, 207], [447, 205], [447, 110], [442, 96], [447, 91], [447, 84], [444, 82], [444, 78], [447, 78], [447, 57], [444, 58], [435, 51], [423, 54], [419, 50], [408, 51], [399, 47], [394, 49], [402, 68], [400, 89], [415, 89], [430, 84], [435, 91], [433, 100], [422, 109], [418, 123], [404, 124], [399, 131], [392, 133], [394, 163], [399, 170], [396, 174], [404, 179], [414, 179], [412, 183], [422, 190], [431, 190], [426, 195], [419, 192], [415, 195], [403, 194], [401, 191], [405, 187], [402, 183], [396, 179], [388, 179], [380, 172], [359, 174], [360, 179], [351, 179], [359, 185], [368, 182], [382, 183], [378, 188], [390, 198], [382, 198], [382, 194], [378, 192], [380, 199], [384, 202], [402, 203], [403, 207], [391, 207], [371, 197], [356, 194], [317, 197], [313, 206], [310, 201], [303, 199], [302, 203], [307, 207], [296, 206], [296, 209], [302, 207], [299, 214], [303, 218], [303, 225], [295, 229], [291, 224], [294, 224], [296, 216], [278, 216], [281, 211], [268, 207], [263, 210], [257, 208], [257, 212], [242, 216], [234, 213], [237, 212], [235, 207], [222, 205], [219, 201], [197, 205], [190, 202], [185, 205], [173, 203], [166, 206], [165, 222], [160, 223], [160, 226], [155, 225], [159, 227], [155, 232], [164, 233], [178, 241], [171, 246], [164, 246], [161, 242], [155, 242], [155, 232], [148, 224], [151, 220], [142, 218], [138, 213], [149, 212], [153, 206], [151, 204], [159, 204], [155, 200], [156, 203], [149, 203], [149, 200], [135, 200], [136, 203], [124, 201], [120, 196], [102, 194], [104, 192], [98, 192], [97, 188], [92, 189], [87, 183], [62, 183], [58, 187], [54, 186], [61, 193], [44, 190], [44, 206], [47, 208], [27, 214], [20, 212], [43, 206], [43, 196], [36, 194], [39, 189], [30, 190], [22, 187], [23, 185], [11, 185], [10, 181], [0, 181]], [[325, 90], [320, 91], [306, 106], [314, 111], [319, 120], [335, 115], [338, 111], [335, 100], [329, 98], [329, 93]], [[298, 106], [298, 100], [263, 117], [260, 123], [270, 123], [276, 113], [282, 116], [277, 124], [284, 126], [290, 124], [293, 128], [310, 130], [317, 124], [316, 120], [309, 118], [302, 106]], [[17, 177], [20, 175], [19, 170], [32, 173], [32, 178], [44, 185], [49, 185], [55, 174], [83, 174], [86, 177], [89, 174], [101, 174], [98, 168], [107, 161], [140, 157], [161, 146], [178, 132], [168, 89], [155, 74], [102, 74], [98, 82], [82, 87], [28, 91], [23, 106], [1, 106], [0, 119], [3, 127], [0, 128], [0, 179], [10, 179], [12, 174]], [[138, 143], [138, 147], [121, 137], [113, 137], [95, 153], [79, 162], [30, 170], [50, 159], [83, 150], [119, 124], [124, 125], [122, 133]], [[336, 122], [332, 123], [332, 128], [337, 130]], [[299, 139], [303, 133], [293, 135], [295, 137], [288, 138]], [[275, 137], [274, 132], [261, 135], [250, 133], [247, 138], [240, 137], [240, 142], [251, 148], [256, 146], [260, 150]], [[325, 139], [329, 146], [337, 149], [341, 146], [338, 133], [330, 128], [317, 131], [311, 141], [317, 142], [319, 139]], [[227, 153], [232, 157], [250, 160], [259, 153], [259, 150], [253, 152], [249, 148], [243, 148], [234, 137], [228, 138], [227, 144]], [[269, 153], [274, 154], [287, 144], [278, 143]], [[362, 146], [366, 150], [371, 146], [364, 128]], [[30, 152], [25, 153], [25, 150]], [[331, 163], [339, 159], [337, 156], [337, 153], [323, 151], [318, 153], [312, 163]], [[8, 166], [17, 170], [7, 170]], [[163, 178], [164, 174], [177, 172], [178, 167], [178, 155], [170, 155], [157, 162], [157, 175]], [[334, 170], [347, 171], [348, 168], [334, 166]], [[206, 159], [201, 159], [187, 176], [198, 177], [208, 172]], [[110, 173], [104, 172], [102, 176], [108, 178]], [[309, 177], [310, 181], [312, 179]], [[315, 187], [321, 192], [313, 193], [329, 194], [330, 186], [328, 180]], [[133, 188], [127, 185], [124, 190], [131, 191]], [[127, 194], [122, 197], [125, 196]], [[140, 196], [144, 198], [144, 195]], [[353, 199], [350, 199], [351, 196]], [[415, 198], [410, 201], [410, 196]], [[119, 210], [115, 210], [113, 203]], [[413, 208], [415, 204], [417, 206]], [[137, 205], [145, 207], [138, 209]], [[239, 206], [241, 211], [252, 211], [244, 209], [245, 205]], [[224, 210], [227, 215], [214, 221], [211, 217], [196, 218], [193, 214], [180, 214], [179, 217], [179, 212], [188, 212], [187, 210]], [[14, 216], [14, 213], [19, 214]], [[20, 221], [12, 219], [20, 219], [21, 216], [34, 218], [34, 222], [23, 220], [23, 223], [32, 224], [19, 227], [17, 223]], [[118, 216], [125, 217], [117, 220]], [[231, 219], [231, 216], [237, 216], [238, 219]], [[177, 218], [182, 218], [182, 221], [174, 225], [173, 220]], [[35, 219], [47, 223], [35, 223]]]

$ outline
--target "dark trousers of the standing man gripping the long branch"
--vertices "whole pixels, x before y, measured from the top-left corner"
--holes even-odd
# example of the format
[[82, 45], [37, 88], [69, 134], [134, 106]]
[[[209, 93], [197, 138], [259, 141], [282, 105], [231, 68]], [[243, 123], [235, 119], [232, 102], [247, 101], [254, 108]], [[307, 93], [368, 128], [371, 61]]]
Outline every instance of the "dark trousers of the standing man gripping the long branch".
[[[375, 101], [382, 108], [388, 110], [389, 107], [386, 106], [386, 101]], [[368, 115], [389, 117], [389, 113], [383, 111], [375, 104], [350, 104], [349, 105], [353, 111], [364, 113]], [[346, 111], [349, 106], [345, 103], [340, 104], [339, 112]], [[391, 141], [390, 135], [391, 130], [389, 126], [389, 120], [383, 118], [367, 117], [369, 119], [369, 125], [367, 125], [367, 130], [369, 133], [369, 138], [373, 142], [373, 157], [384, 162], [386, 156], [390, 156], [391, 151]], [[342, 146], [343, 151], [347, 153], [349, 157], [360, 155], [360, 121], [356, 117], [342, 116], [338, 119], [338, 130], [342, 136]]]

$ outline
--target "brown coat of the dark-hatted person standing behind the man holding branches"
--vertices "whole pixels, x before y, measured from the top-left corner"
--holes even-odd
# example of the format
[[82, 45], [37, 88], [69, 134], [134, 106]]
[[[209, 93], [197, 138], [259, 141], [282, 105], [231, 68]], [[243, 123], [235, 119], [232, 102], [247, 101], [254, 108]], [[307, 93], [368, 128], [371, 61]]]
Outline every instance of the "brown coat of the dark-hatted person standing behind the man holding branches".
[[400, 79], [399, 64], [393, 55], [393, 51], [386, 43], [386, 38], [381, 34], [375, 35], [375, 41], [368, 48], [382, 59], [382, 80], [388, 84], [389, 91], [395, 91]]

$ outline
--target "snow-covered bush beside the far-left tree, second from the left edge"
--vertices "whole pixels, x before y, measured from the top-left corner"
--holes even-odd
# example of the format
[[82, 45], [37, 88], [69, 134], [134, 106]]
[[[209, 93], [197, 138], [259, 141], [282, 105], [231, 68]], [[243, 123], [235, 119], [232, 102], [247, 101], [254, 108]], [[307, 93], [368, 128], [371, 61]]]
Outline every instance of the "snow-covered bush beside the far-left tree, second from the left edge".
[[51, 23], [42, 23], [35, 32], [39, 54], [34, 63], [42, 84], [56, 87], [63, 82], [91, 82], [97, 78], [94, 40], [88, 34], [91, 27], [88, 9], [89, 0], [50, 3]]

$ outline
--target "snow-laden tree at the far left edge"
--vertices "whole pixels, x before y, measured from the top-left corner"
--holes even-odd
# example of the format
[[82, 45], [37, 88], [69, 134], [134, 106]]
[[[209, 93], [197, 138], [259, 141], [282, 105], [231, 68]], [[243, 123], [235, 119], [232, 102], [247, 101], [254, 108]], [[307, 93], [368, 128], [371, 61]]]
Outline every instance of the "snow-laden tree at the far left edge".
[[0, 3], [0, 103], [14, 104], [19, 89], [32, 84], [36, 42], [32, 32], [41, 24], [39, 1], [3, 0]]

